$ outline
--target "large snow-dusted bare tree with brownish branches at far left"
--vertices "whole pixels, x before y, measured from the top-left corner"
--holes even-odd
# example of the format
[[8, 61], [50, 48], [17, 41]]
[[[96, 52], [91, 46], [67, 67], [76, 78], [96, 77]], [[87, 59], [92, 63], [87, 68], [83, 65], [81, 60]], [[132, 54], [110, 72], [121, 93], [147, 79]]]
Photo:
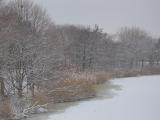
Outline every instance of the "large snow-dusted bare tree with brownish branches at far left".
[[[7, 92], [17, 91], [18, 96], [22, 97], [23, 90], [35, 84], [35, 81], [40, 80], [43, 76], [45, 65], [41, 58], [46, 56], [46, 54], [43, 54], [45, 51], [43, 48], [47, 48], [46, 41], [43, 41], [46, 30], [36, 28], [32, 24], [33, 21], [29, 18], [26, 19], [22, 14], [22, 8], [24, 7], [19, 8], [16, 5], [19, 6], [19, 1], [7, 5], [4, 8], [4, 13], [0, 16], [0, 26], [3, 28], [0, 32], [0, 42], [2, 43], [0, 57], [1, 63], [5, 63], [2, 64], [1, 70], [3, 71], [3, 77], [6, 79], [3, 83], [7, 84], [6, 89], [9, 89]], [[38, 8], [34, 6], [33, 11], [30, 12], [34, 13], [34, 9], [38, 11]], [[40, 8], [39, 11], [41, 11]], [[42, 22], [44, 19], [48, 22], [48, 18], [43, 18], [41, 22], [40, 17], [37, 17], [37, 19], [39, 20], [38, 24], [41, 23], [42, 26], [46, 25]], [[34, 29], [36, 30], [33, 31]]]

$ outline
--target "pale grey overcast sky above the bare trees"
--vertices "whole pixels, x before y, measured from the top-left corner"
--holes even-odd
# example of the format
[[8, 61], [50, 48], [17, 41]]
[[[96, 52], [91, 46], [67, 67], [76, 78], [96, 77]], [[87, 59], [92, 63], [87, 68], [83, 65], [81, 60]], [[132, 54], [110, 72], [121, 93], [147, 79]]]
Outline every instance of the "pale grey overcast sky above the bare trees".
[[160, 37], [160, 0], [36, 0], [56, 24], [98, 24], [115, 33], [136, 26]]

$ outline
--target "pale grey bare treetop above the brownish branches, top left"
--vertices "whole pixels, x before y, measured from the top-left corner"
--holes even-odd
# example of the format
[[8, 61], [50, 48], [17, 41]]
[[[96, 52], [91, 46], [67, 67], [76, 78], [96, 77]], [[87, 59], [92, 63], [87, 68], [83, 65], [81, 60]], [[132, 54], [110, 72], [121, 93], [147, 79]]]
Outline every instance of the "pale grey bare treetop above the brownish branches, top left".
[[34, 4], [31, 0], [15, 0], [9, 3], [10, 12], [18, 14], [20, 21], [28, 21], [32, 31], [43, 33], [50, 24], [50, 18], [45, 9]]

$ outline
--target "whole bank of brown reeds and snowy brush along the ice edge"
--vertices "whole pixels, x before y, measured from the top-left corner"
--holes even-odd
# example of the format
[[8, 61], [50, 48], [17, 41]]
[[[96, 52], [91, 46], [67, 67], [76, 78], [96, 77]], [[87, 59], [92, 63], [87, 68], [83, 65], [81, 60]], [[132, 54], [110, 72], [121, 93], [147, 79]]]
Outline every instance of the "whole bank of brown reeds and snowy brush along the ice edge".
[[[36, 88], [32, 97], [24, 96], [22, 100], [15, 99], [13, 96], [13, 98], [6, 98], [6, 102], [1, 105], [4, 109], [0, 111], [0, 117], [4, 120], [21, 119], [32, 114], [48, 112], [53, 107], [51, 104], [96, 98], [97, 87], [113, 78], [135, 77], [153, 73], [158, 74], [159, 70], [152, 68], [70, 74], [64, 80], [49, 81], [45, 87]], [[114, 87], [109, 84], [110, 82], [107, 82], [108, 86], [105, 87], [108, 89]], [[17, 104], [18, 106], [15, 106]]]

